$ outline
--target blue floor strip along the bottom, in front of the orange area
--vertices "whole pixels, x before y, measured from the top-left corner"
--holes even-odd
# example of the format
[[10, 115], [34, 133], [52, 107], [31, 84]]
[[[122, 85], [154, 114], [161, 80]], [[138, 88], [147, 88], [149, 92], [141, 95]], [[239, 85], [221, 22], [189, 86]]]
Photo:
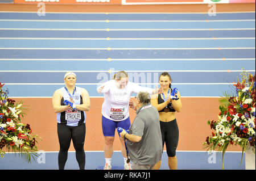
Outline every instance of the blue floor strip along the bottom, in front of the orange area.
[[[85, 151], [86, 170], [102, 170], [105, 165], [103, 151]], [[214, 152], [209, 154], [205, 151], [177, 151], [177, 170], [221, 170], [222, 153]], [[245, 170], [245, 154], [243, 154], [242, 167], [241, 152], [226, 152], [224, 155], [225, 170]], [[39, 157], [27, 163], [18, 154], [6, 153], [0, 158], [0, 170], [58, 170], [58, 152], [42, 152]], [[132, 162], [131, 162], [132, 164]], [[121, 151], [114, 151], [112, 157], [112, 169], [123, 170], [123, 157]], [[66, 170], [78, 170], [74, 151], [68, 153], [65, 165]], [[168, 157], [166, 151], [162, 155], [160, 170], [168, 170]]]

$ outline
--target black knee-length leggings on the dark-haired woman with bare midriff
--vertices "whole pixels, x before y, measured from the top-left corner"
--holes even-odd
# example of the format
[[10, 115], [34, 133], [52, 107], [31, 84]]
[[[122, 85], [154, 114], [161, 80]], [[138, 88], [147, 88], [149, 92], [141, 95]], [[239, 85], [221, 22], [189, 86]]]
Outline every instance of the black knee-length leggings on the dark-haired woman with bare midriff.
[[163, 146], [164, 142], [166, 142], [166, 151], [168, 157], [175, 157], [176, 148], [179, 141], [179, 128], [177, 126], [176, 119], [169, 122], [160, 121], [160, 128]]

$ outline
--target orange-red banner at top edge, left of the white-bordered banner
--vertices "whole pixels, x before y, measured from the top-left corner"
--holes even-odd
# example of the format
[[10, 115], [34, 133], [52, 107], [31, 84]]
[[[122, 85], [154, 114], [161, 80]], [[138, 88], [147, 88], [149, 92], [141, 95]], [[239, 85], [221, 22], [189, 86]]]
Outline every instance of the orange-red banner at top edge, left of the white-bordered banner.
[[14, 0], [14, 3], [46, 3], [59, 5], [117, 5], [121, 0]]

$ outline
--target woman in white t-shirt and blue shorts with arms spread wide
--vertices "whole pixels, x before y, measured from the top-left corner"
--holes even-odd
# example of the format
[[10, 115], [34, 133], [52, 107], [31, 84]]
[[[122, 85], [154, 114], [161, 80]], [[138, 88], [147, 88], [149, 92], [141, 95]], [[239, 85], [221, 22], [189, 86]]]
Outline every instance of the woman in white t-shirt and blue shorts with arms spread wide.
[[[126, 130], [130, 129], [129, 117], [129, 102], [131, 94], [139, 91], [147, 91], [149, 94], [156, 94], [163, 91], [162, 89], [150, 89], [141, 87], [136, 83], [128, 81], [128, 75], [125, 71], [118, 71], [114, 78], [105, 82], [98, 87], [97, 92], [104, 94], [104, 103], [102, 104], [102, 131], [105, 138], [105, 167], [104, 170], [110, 170], [111, 158], [113, 155], [113, 143], [115, 129], [118, 127]], [[126, 163], [127, 155], [123, 138], [119, 137], [121, 141], [121, 152], [125, 162], [125, 170], [130, 170], [130, 163]]]

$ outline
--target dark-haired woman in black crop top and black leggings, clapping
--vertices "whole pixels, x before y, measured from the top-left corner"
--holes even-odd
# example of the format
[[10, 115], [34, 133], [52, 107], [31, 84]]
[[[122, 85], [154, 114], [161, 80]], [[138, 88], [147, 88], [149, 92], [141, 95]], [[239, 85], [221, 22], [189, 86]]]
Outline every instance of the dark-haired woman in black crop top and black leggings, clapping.
[[[175, 112], [180, 112], [182, 108], [180, 92], [177, 92], [178, 100], [171, 99], [171, 76], [167, 72], [160, 75], [159, 83], [164, 93], [158, 94], [156, 98], [151, 99], [152, 106], [155, 106], [159, 112], [160, 128], [162, 133], [163, 146], [166, 143], [168, 155], [168, 166], [171, 170], [177, 169], [176, 148], [179, 141], [179, 128], [177, 126]], [[154, 169], [159, 169], [161, 161], [156, 163]]]

